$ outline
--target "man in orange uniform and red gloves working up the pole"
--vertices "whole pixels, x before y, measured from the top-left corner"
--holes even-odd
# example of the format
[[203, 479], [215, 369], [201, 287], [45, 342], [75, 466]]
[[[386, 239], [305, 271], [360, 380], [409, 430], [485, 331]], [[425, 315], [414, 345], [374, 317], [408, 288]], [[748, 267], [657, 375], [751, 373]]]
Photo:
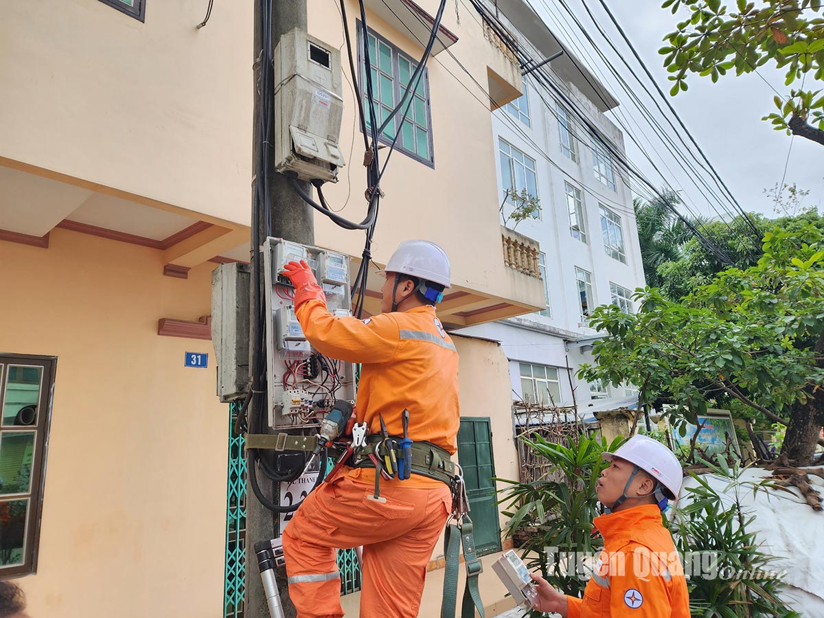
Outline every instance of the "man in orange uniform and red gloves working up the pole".
[[[295, 287], [295, 314], [312, 346], [362, 363], [358, 423], [380, 436], [382, 418], [400, 437], [409, 410], [414, 445], [423, 442], [449, 461], [460, 424], [458, 354], [434, 307], [450, 283], [446, 253], [432, 242], [402, 242], [383, 271], [382, 313], [363, 321], [327, 311], [305, 262], [290, 262], [283, 273]], [[361, 618], [418, 616], [426, 565], [452, 510], [452, 492], [444, 480], [411, 469], [409, 479], [386, 480], [373, 466], [344, 466], [303, 501], [283, 532], [298, 618], [344, 615], [335, 550], [358, 545]]]

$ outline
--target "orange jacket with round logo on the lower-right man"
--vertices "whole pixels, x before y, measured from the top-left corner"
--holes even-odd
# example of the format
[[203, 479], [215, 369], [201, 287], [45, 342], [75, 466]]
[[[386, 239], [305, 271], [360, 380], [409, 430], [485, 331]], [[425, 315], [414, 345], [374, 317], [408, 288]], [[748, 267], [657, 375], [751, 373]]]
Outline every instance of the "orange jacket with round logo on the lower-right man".
[[655, 504], [596, 517], [604, 550], [568, 618], [690, 618], [686, 578]]

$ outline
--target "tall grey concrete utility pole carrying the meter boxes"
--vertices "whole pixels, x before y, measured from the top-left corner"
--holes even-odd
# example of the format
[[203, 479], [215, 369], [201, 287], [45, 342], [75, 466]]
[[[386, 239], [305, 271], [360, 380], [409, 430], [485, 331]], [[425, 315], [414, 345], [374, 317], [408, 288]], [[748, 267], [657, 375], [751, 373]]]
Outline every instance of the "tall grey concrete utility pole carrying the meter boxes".
[[[264, 0], [266, 2], [266, 0]], [[307, 2], [306, 0], [272, 0], [272, 49], [277, 47], [281, 35], [286, 34], [293, 28], [300, 28], [307, 30]], [[261, 2], [255, 0], [255, 56], [254, 56], [254, 111], [252, 115], [253, 136], [252, 136], [252, 163], [255, 167], [253, 173], [257, 173], [256, 166], [258, 161], [258, 153], [261, 147], [261, 128], [260, 128], [260, 83], [261, 75], [264, 70], [263, 52], [263, 32], [264, 32], [264, 18], [261, 11]], [[274, 112], [273, 112], [274, 113]], [[265, 147], [272, 148], [270, 144]], [[270, 157], [270, 161], [274, 162], [274, 155]], [[273, 236], [280, 236], [284, 239], [299, 242], [303, 245], [313, 245], [315, 243], [315, 227], [314, 219], [312, 218], [312, 210], [309, 204], [306, 204], [297, 193], [289, 185], [285, 176], [281, 176], [274, 171], [274, 166], [265, 170], [266, 179], [269, 186], [269, 201], [271, 204], [270, 217], [272, 221], [271, 233]], [[260, 179], [255, 179], [252, 185], [252, 208], [255, 208], [255, 183]], [[311, 195], [311, 185], [303, 183], [303, 190]], [[265, 213], [260, 213], [259, 234], [261, 245], [266, 237], [265, 231]], [[254, 238], [254, 236], [253, 236]], [[260, 251], [260, 246], [253, 246], [252, 249]], [[263, 267], [261, 266], [261, 269]], [[252, 283], [254, 285], [254, 281]], [[251, 291], [250, 291], [251, 292]], [[263, 294], [265, 291], [261, 288], [258, 293]], [[260, 296], [261, 303], [263, 303], [263, 296]], [[254, 310], [253, 310], [254, 311]], [[256, 331], [255, 316], [252, 316], [250, 321], [250, 342], [254, 342], [255, 338], [259, 336]], [[250, 344], [250, 350], [254, 348]], [[253, 397], [252, 404], [260, 405], [260, 403], [268, 400], [267, 397]], [[263, 415], [268, 424], [269, 414], [265, 406], [260, 406], [260, 409], [251, 410], [252, 415], [257, 417]], [[272, 428], [266, 427], [266, 433], [271, 433]], [[254, 474], [255, 471], [250, 466], [248, 475]], [[279, 491], [274, 486], [274, 483], [269, 482], [264, 475], [258, 476], [260, 481], [260, 489], [265, 496], [271, 499], [274, 503], [279, 503]], [[274, 496], [273, 496], [274, 494]], [[269, 618], [269, 607], [266, 604], [266, 599], [263, 592], [263, 585], [260, 581], [260, 574], [258, 573], [257, 559], [255, 557], [254, 545], [257, 541], [273, 538], [277, 536], [278, 530], [278, 516], [271, 513], [269, 509], [265, 508], [255, 498], [252, 491], [250, 481], [246, 480], [246, 611], [244, 616], [246, 618]], [[287, 618], [294, 618], [296, 611], [289, 599], [288, 586], [286, 585], [285, 569], [277, 569], [278, 587], [283, 603], [283, 611]]]

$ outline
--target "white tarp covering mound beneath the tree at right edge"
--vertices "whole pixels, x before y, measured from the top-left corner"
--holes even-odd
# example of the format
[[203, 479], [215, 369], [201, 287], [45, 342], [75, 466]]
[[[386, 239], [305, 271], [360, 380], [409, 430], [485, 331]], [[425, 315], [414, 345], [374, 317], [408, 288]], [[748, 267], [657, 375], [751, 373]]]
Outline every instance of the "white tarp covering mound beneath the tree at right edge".
[[[771, 471], [751, 468], [744, 471], [742, 480], [759, 481], [770, 478]], [[728, 481], [715, 475], [702, 475], [709, 485], [721, 493]], [[824, 496], [824, 480], [809, 475], [810, 485]], [[695, 485], [686, 478], [684, 486]], [[787, 573], [788, 584], [784, 601], [805, 618], [824, 616], [824, 511], [813, 511], [798, 489], [793, 492], [759, 491], [753, 498], [752, 490], [742, 488], [741, 499], [745, 511], [755, 515], [747, 530], [755, 531], [761, 550], [778, 559], [770, 566]], [[681, 489], [681, 496], [685, 496]], [[733, 503], [733, 497], [722, 495], [725, 506]]]

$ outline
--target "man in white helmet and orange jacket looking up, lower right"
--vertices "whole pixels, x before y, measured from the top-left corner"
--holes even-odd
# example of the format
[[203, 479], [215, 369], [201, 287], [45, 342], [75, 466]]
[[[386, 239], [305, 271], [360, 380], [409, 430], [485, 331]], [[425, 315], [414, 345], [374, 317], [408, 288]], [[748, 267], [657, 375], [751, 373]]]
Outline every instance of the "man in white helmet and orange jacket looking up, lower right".
[[604, 550], [583, 599], [552, 588], [541, 576], [539, 611], [565, 618], [690, 618], [686, 578], [661, 512], [681, 489], [681, 464], [661, 442], [633, 436], [616, 452], [605, 452], [610, 466], [597, 482], [607, 514], [595, 527]]

